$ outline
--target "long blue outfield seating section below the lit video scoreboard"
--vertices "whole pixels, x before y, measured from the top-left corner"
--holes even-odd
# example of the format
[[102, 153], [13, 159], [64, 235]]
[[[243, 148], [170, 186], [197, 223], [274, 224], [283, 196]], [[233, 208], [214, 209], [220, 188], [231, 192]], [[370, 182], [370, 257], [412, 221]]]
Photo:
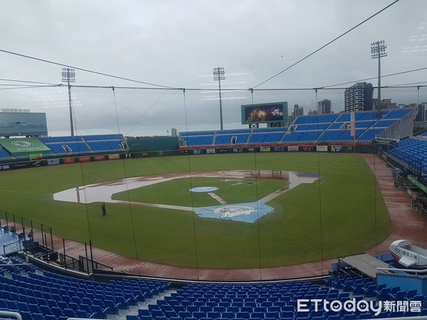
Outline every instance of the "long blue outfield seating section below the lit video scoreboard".
[[[411, 110], [355, 112], [357, 142], [371, 142]], [[300, 116], [289, 128], [255, 128], [209, 132], [183, 132], [180, 139], [186, 146], [232, 146], [233, 144], [292, 144], [317, 142], [352, 142], [351, 115], [320, 114]]]

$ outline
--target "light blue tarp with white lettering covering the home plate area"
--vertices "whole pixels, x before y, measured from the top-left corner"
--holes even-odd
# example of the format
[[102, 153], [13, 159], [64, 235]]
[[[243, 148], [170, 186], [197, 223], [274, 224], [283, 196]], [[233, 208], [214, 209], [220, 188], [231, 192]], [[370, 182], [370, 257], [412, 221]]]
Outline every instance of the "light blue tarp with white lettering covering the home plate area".
[[273, 210], [274, 208], [267, 206], [265, 203], [258, 202], [194, 208], [194, 212], [201, 218], [234, 220], [246, 223], [254, 223]]

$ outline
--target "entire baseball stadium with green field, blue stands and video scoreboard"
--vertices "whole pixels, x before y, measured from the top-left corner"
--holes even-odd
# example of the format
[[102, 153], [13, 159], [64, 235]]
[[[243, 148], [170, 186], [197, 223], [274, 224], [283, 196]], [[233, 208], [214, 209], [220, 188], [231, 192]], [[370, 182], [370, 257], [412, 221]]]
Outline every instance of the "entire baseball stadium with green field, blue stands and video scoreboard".
[[[240, 112], [248, 129], [176, 137], [50, 137], [46, 114], [0, 113], [6, 312], [46, 320], [375, 316], [297, 306], [324, 296], [408, 297], [423, 309], [423, 265], [389, 250], [397, 240], [427, 240], [418, 108], [302, 115], [288, 127], [288, 102]], [[410, 313], [421, 311], [379, 316]]]

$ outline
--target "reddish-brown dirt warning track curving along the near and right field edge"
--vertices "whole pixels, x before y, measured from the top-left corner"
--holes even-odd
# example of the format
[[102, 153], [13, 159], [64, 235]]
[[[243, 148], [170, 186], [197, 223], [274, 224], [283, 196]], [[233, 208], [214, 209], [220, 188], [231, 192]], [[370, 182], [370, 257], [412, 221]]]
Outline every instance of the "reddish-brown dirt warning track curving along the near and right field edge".
[[[411, 240], [414, 245], [427, 247], [427, 219], [418, 215], [411, 208], [411, 198], [400, 189], [394, 187], [392, 169], [379, 157], [372, 154], [362, 155], [374, 172], [379, 188], [391, 216], [392, 232], [389, 238], [367, 253], [376, 255], [389, 251], [389, 244], [397, 239]], [[56, 247], [63, 247], [62, 240], [56, 240]], [[81, 245], [73, 245], [67, 241], [66, 254], [78, 257], [82, 254]], [[84, 252], [84, 251], [83, 251]], [[307, 263], [287, 267], [271, 267], [263, 269], [201, 269], [190, 267], [174, 267], [159, 265], [153, 262], [140, 261], [135, 258], [123, 257], [112, 252], [93, 248], [93, 257], [97, 262], [114, 267], [115, 271], [139, 274], [148, 277], [165, 277], [170, 279], [211, 280], [211, 281], [258, 281], [273, 279], [295, 279], [327, 274], [330, 265], [337, 260]]]

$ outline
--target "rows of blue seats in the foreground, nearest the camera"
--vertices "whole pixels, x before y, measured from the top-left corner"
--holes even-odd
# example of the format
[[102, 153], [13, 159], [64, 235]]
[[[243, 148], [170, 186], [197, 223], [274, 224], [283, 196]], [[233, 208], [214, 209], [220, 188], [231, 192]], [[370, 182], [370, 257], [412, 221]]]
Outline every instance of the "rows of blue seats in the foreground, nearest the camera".
[[[23, 320], [66, 320], [70, 317], [117, 319], [120, 309], [127, 310], [127, 320], [283, 320], [283, 319], [371, 319], [427, 314], [427, 297], [417, 289], [386, 287], [369, 277], [339, 275], [328, 277], [325, 284], [305, 281], [263, 283], [191, 283], [153, 299], [169, 290], [169, 283], [148, 279], [117, 279], [94, 282], [53, 272], [41, 272], [22, 260], [11, 258], [6, 269], [0, 263], [0, 310], [15, 311]], [[21, 265], [23, 264], [23, 265]], [[6, 272], [7, 270], [7, 272]], [[305, 310], [297, 310], [298, 300], [306, 299]], [[318, 308], [309, 300], [318, 299]], [[344, 303], [355, 299], [408, 302], [408, 308], [382, 311], [325, 310], [323, 300]], [[418, 310], [409, 309], [417, 302]], [[397, 314], [396, 312], [399, 312]], [[110, 315], [110, 316], [109, 316]]]

